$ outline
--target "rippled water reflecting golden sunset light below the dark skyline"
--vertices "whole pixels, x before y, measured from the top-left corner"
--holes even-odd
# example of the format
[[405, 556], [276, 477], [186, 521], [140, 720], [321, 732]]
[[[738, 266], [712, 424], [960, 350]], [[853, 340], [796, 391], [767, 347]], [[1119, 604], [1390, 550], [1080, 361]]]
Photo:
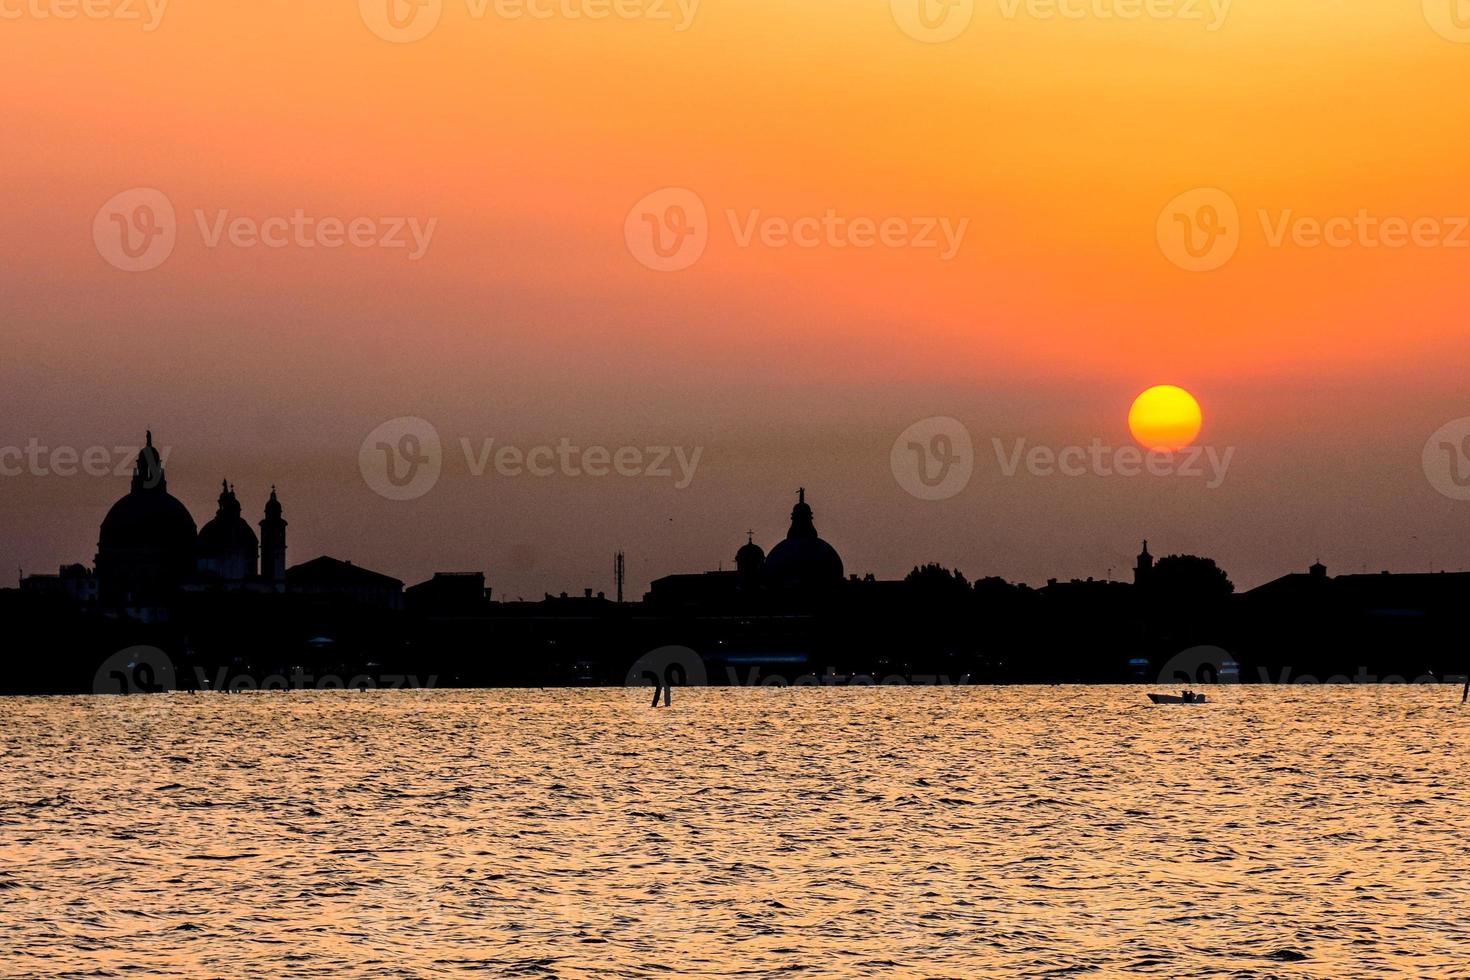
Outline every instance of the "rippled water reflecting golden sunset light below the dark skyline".
[[0, 698], [0, 973], [1470, 976], [1458, 701]]

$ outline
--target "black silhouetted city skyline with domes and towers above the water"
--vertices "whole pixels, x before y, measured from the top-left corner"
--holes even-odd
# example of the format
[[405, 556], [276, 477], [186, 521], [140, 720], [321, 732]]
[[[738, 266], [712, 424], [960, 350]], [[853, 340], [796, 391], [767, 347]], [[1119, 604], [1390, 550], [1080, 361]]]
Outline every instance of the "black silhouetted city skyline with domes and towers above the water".
[[932, 563], [879, 580], [845, 576], [804, 488], [769, 552], [747, 532], [734, 569], [654, 579], [635, 602], [591, 588], [495, 601], [484, 572], [440, 572], [404, 589], [328, 555], [288, 567], [273, 486], [263, 513], [257, 533], [225, 480], [213, 517], [196, 527], [150, 432], [128, 494], [101, 522], [96, 570], [62, 566], [0, 589], [16, 649], [32, 651], [12, 658], [0, 689], [85, 691], [97, 663], [140, 642], [168, 649], [197, 686], [298, 669], [467, 686], [622, 683], [638, 657], [669, 645], [695, 651], [710, 683], [1154, 682], [1182, 651], [1205, 648], [1229, 651], [1211, 676], [1242, 682], [1470, 667], [1470, 573], [1332, 576], [1316, 561], [1236, 594], [1213, 560], [1155, 560], [1144, 541], [1130, 583], [972, 583]]

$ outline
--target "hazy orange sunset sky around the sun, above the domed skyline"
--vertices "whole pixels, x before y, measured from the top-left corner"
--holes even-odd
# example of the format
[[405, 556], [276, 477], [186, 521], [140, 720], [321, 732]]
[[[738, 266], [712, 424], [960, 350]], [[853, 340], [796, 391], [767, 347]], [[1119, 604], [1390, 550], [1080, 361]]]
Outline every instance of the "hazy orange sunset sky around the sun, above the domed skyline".
[[[1141, 538], [1238, 586], [1319, 557], [1470, 567], [1470, 502], [1421, 464], [1470, 416], [1470, 10], [1448, 0], [1138, 18], [966, 0], [944, 41], [913, 35], [907, 0], [622, 0], [642, 13], [601, 19], [598, 0], [442, 0], [409, 9], [438, 18], [409, 43], [379, 35], [372, 0], [93, 1], [110, 13], [0, 0], [0, 445], [135, 447], [153, 426], [198, 523], [220, 478], [251, 520], [276, 483], [293, 563], [410, 583], [484, 569], [509, 597], [610, 589], [619, 547], [635, 594], [729, 564], [747, 527], [767, 548], [785, 533], [797, 486], [847, 570], [881, 577], [1122, 576]], [[94, 238], [132, 188], [176, 213], [143, 272]], [[662, 188], [707, 212], [675, 272], [628, 235]], [[1211, 270], [1160, 231], [1197, 188], [1238, 212]], [[297, 210], [435, 223], [417, 259], [210, 242], [212, 222]], [[948, 257], [741, 241], [828, 212], [964, 234]], [[1274, 238], [1360, 213], [1439, 234]], [[1129, 406], [1155, 383], [1200, 400], [1201, 445], [1233, 448], [1219, 486], [1003, 472], [997, 439], [1132, 445]], [[359, 470], [400, 416], [444, 441], [409, 501]], [[928, 417], [973, 438], [945, 500], [891, 467]], [[682, 489], [473, 476], [460, 439], [491, 438], [703, 455]], [[125, 491], [0, 476], [0, 557], [90, 563]]]

